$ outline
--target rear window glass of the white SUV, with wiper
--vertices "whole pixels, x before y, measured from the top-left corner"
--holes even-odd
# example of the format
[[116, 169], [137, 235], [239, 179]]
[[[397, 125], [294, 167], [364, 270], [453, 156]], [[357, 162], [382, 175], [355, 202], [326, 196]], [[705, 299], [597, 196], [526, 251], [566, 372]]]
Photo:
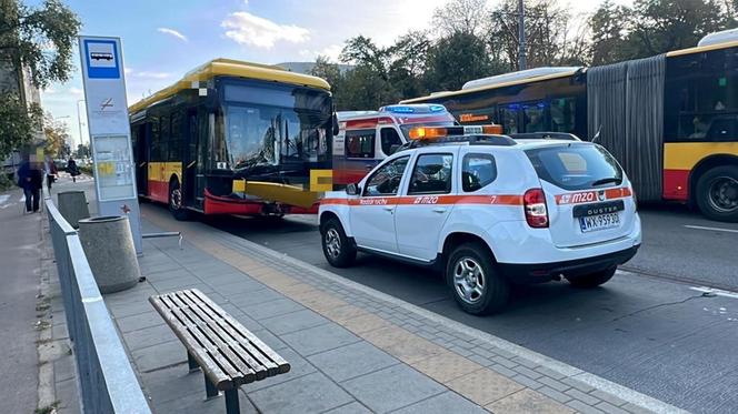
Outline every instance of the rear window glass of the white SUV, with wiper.
[[538, 176], [565, 190], [620, 185], [622, 169], [607, 150], [590, 143], [527, 150]]

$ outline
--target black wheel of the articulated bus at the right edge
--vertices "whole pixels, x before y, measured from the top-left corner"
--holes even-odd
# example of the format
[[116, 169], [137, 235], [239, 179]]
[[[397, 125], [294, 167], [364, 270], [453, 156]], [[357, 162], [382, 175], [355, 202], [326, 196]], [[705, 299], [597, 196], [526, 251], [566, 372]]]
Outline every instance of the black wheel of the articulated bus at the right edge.
[[738, 222], [738, 165], [716, 166], [697, 181], [697, 205], [708, 219]]

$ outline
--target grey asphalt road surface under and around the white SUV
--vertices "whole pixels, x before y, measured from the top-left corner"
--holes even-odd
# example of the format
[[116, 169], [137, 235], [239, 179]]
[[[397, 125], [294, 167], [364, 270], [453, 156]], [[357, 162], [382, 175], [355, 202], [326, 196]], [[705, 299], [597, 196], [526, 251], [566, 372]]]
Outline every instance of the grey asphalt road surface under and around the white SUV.
[[486, 317], [461, 312], [440, 275], [425, 269], [367, 255], [353, 267], [330, 267], [315, 216], [205, 221], [688, 411], [738, 412], [738, 295], [690, 289], [738, 291], [738, 233], [685, 228], [738, 225], [671, 205], [641, 210], [641, 218], [632, 272], [592, 291], [564, 282], [519, 287], [506, 312]]

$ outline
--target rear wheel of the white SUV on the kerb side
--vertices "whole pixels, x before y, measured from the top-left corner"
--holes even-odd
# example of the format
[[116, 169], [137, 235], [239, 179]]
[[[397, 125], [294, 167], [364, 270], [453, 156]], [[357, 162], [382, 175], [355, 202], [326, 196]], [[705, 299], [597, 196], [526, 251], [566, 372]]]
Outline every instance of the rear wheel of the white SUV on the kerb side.
[[473, 315], [500, 311], [510, 296], [508, 281], [495, 265], [489, 250], [479, 243], [463, 243], [451, 252], [446, 263], [446, 281], [456, 303]]

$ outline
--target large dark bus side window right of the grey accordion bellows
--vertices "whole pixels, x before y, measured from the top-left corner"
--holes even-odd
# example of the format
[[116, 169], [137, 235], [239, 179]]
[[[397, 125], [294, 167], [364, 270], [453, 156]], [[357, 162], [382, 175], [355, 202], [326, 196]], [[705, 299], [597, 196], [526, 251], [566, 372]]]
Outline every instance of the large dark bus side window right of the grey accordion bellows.
[[666, 138], [738, 141], [738, 49], [687, 55], [669, 69]]

